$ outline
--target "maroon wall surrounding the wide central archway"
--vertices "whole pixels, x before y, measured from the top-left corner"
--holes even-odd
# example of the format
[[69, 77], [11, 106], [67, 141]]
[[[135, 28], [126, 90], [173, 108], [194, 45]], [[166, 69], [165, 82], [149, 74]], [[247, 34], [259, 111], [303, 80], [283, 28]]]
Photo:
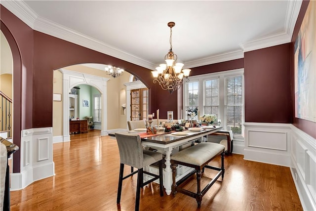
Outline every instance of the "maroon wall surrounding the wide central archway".
[[[149, 69], [35, 31], [33, 127], [52, 127], [53, 70], [79, 63], [113, 64], [123, 67], [147, 87], [152, 86], [152, 74]], [[39, 116], [41, 118], [37, 118]]]

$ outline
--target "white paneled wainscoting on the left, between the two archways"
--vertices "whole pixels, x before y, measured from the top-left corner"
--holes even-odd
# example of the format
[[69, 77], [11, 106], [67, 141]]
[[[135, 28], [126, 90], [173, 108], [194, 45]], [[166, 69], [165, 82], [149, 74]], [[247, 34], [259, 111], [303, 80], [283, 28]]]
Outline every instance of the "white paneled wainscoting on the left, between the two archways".
[[11, 174], [10, 190], [23, 189], [34, 181], [55, 174], [52, 127], [22, 130], [19, 150], [21, 171]]

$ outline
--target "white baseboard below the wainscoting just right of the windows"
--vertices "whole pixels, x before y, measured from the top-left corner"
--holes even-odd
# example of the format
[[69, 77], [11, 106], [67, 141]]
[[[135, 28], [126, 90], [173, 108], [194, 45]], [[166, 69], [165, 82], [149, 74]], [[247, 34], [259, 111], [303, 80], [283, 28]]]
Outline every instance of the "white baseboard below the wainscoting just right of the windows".
[[[234, 146], [235, 147], [235, 146]], [[260, 163], [273, 164], [290, 167], [290, 156], [288, 154], [278, 154], [267, 151], [244, 149], [243, 159]]]

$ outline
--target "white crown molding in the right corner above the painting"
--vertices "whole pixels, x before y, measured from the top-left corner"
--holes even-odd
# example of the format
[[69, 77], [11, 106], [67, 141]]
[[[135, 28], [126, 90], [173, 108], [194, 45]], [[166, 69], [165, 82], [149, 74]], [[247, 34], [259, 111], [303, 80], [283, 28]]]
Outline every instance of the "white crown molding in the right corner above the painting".
[[251, 50], [257, 50], [265, 47], [271, 47], [274, 45], [291, 42], [296, 20], [301, 9], [301, 5], [302, 0], [288, 1], [283, 32], [262, 37], [253, 41], [243, 42], [240, 44], [241, 49], [243, 49], [244, 52], [247, 52]]

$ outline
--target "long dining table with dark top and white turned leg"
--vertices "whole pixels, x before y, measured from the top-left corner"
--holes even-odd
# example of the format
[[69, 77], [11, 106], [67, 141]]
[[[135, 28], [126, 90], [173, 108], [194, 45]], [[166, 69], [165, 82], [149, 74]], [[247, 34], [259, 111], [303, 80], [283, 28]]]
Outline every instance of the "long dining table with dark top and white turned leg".
[[[158, 152], [165, 155], [165, 168], [163, 169], [163, 186], [165, 188], [165, 192], [167, 195], [171, 193], [171, 186], [172, 186], [172, 170], [171, 170], [171, 163], [170, 159], [172, 153], [176, 153], [179, 148], [181, 149], [184, 145], [194, 144], [196, 140], [206, 137], [207, 135], [212, 134], [221, 130], [223, 127], [220, 126], [205, 126], [188, 128], [183, 131], [171, 131], [171, 132], [163, 132], [163, 133], [156, 133], [156, 134], [147, 134], [146, 131], [142, 131], [141, 128], [135, 130], [129, 130], [128, 132], [137, 132], [140, 137], [142, 144], [145, 148], [152, 148], [156, 149]], [[176, 181], [182, 179], [187, 174], [190, 173], [190, 170], [182, 170], [177, 172]]]

